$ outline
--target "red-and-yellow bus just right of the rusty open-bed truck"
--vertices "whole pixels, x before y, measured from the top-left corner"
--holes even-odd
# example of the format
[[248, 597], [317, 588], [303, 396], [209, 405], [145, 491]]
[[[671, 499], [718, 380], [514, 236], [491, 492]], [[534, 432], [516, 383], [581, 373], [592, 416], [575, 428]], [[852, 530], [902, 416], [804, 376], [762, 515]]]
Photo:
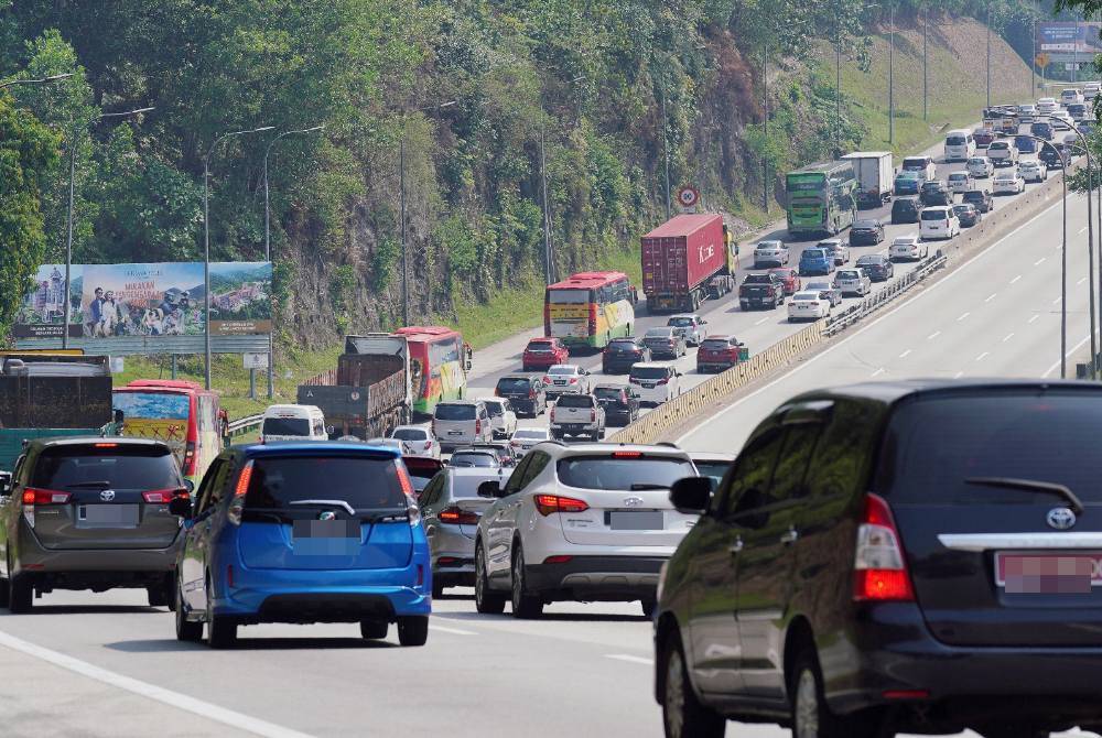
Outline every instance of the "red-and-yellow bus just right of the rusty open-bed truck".
[[463, 335], [443, 326], [410, 326], [404, 336], [410, 351], [413, 412], [432, 414], [437, 402], [458, 400], [467, 389], [471, 349]]

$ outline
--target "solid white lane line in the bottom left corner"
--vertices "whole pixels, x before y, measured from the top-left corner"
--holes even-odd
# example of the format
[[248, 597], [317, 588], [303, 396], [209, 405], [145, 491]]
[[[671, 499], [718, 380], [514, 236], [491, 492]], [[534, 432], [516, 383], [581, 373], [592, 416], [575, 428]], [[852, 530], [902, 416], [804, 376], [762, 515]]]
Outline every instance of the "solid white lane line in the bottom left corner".
[[208, 720], [215, 720], [216, 723], [228, 725], [231, 728], [238, 728], [258, 736], [268, 736], [270, 738], [310, 738], [309, 734], [284, 728], [276, 725], [274, 723], [268, 723], [267, 720], [249, 717], [248, 715], [242, 715], [241, 713], [235, 713], [231, 709], [226, 709], [225, 707], [203, 702], [202, 699], [196, 699], [195, 697], [188, 697], [180, 692], [165, 690], [164, 687], [160, 687], [154, 684], [141, 682], [130, 676], [123, 676], [122, 674], [100, 669], [99, 666], [95, 666], [86, 661], [74, 659], [71, 655], [58, 653], [57, 651], [44, 649], [41, 645], [35, 645], [34, 643], [15, 638], [14, 636], [2, 631], [0, 631], [0, 645], [12, 649], [13, 651], [25, 653], [30, 656], [34, 656], [35, 659], [41, 659], [42, 661], [54, 664], [55, 666], [67, 669], [71, 672], [96, 680], [102, 684], [126, 690], [127, 692], [131, 692], [141, 697], [155, 699], [156, 702], [163, 703], [169, 707], [175, 707], [176, 709], [182, 709], [184, 712], [192, 713], [193, 715], [205, 717]]

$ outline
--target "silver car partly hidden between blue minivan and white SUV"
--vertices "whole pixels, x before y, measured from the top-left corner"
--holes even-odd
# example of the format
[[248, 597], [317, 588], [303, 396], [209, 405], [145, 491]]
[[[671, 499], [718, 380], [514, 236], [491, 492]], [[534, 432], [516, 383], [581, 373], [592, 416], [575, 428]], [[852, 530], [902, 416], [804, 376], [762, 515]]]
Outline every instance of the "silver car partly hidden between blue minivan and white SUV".
[[478, 497], [478, 485], [505, 485], [510, 470], [503, 468], [446, 468], [421, 492], [421, 519], [429, 536], [432, 596], [446, 587], [475, 583], [475, 532], [483, 511], [493, 500]]

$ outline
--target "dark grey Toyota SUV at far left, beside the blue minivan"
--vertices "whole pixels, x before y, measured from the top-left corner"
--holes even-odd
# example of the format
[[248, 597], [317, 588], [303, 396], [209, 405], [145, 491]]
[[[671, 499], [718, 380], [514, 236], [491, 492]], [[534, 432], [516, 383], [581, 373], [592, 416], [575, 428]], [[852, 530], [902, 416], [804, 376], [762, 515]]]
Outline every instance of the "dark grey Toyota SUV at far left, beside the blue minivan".
[[0, 507], [0, 600], [28, 612], [35, 593], [141, 587], [172, 606], [182, 538], [169, 502], [190, 488], [158, 441], [32, 441]]

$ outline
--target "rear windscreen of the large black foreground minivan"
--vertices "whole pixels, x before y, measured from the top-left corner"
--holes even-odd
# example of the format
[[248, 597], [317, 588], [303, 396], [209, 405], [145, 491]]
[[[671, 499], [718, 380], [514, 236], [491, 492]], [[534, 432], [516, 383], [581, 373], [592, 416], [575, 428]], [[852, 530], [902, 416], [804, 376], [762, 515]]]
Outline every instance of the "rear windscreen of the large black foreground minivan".
[[919, 400], [886, 436], [877, 487], [905, 503], [1051, 503], [1056, 495], [970, 485], [1003, 477], [1065, 485], [1102, 502], [1102, 397], [1056, 392]]

